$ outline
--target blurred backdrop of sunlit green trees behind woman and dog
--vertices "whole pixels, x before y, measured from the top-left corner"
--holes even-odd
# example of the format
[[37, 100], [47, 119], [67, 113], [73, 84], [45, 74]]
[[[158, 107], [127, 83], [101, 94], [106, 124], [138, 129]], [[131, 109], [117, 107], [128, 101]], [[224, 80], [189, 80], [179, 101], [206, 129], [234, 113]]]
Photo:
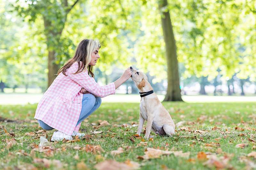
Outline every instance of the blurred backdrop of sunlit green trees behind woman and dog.
[[[254, 0], [1, 2], [2, 92], [5, 87], [44, 92], [79, 41], [89, 38], [102, 44], [94, 68], [102, 84], [132, 65], [148, 75], [166, 100], [181, 100], [180, 91], [255, 93]], [[124, 86], [126, 93], [138, 92], [131, 81]]]

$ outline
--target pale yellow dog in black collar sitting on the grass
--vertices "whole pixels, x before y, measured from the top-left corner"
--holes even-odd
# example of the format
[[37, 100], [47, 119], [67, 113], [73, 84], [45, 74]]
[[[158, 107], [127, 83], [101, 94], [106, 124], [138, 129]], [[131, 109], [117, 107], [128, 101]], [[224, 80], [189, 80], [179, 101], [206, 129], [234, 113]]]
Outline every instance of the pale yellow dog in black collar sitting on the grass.
[[175, 124], [171, 115], [164, 108], [162, 103], [153, 92], [153, 88], [148, 83], [148, 77], [141, 71], [132, 70], [132, 80], [140, 90], [140, 121], [137, 134], [140, 135], [145, 120], [148, 121], [145, 138], [148, 140], [152, 130], [159, 135], [175, 134]]

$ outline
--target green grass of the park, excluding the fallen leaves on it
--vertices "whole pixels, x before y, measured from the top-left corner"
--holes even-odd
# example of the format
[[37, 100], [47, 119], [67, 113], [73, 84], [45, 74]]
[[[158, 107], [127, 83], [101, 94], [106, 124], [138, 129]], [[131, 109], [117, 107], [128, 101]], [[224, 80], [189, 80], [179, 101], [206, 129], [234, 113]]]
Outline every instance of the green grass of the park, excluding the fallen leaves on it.
[[[136, 134], [137, 126], [121, 126], [125, 124], [138, 124], [139, 104], [138, 103], [102, 103], [100, 108], [96, 110], [89, 118], [82, 123], [80, 130], [86, 134], [92, 135], [89, 141], [81, 140], [75, 143], [52, 143], [54, 148], [66, 147], [65, 151], [55, 151], [53, 156], [46, 156], [44, 153], [35, 152], [28, 156], [19, 155], [23, 150], [26, 153], [31, 152], [30, 144], [39, 144], [40, 134], [35, 136], [27, 136], [26, 132], [36, 132], [41, 128], [33, 120], [35, 105], [8, 105], [0, 106], [0, 117], [14, 120], [14, 122], [0, 122], [0, 169], [28, 167], [32, 164], [38, 169], [44, 169], [42, 164], [34, 163], [35, 158], [58, 159], [63, 163], [65, 169], [76, 169], [76, 164], [84, 162], [87, 167], [93, 169], [94, 165], [103, 159], [115, 159], [124, 162], [129, 159], [140, 163], [140, 169], [162, 169], [168, 167], [171, 169], [209, 169], [204, 165], [205, 161], [197, 159], [198, 152], [207, 154], [216, 154], [218, 148], [223, 153], [217, 154], [217, 157], [228, 155], [230, 160], [228, 164], [235, 169], [246, 169], [246, 164], [241, 160], [242, 156], [246, 156], [252, 152], [255, 143], [248, 138], [256, 139], [256, 103], [185, 103], [185, 102], [163, 102], [164, 107], [169, 111], [175, 123], [186, 121], [181, 127], [189, 127], [193, 130], [206, 130], [209, 133], [200, 134], [179, 130], [176, 128], [176, 134], [173, 137], [155, 135], [153, 141], [148, 142], [148, 146], [138, 146], [142, 139], [135, 138], [135, 142], [129, 139]], [[3, 119], [2, 119], [3, 120]], [[91, 123], [98, 123], [99, 120], [107, 120], [111, 126], [100, 127], [98, 130], [103, 133], [93, 135], [91, 131], [93, 126]], [[114, 126], [115, 125], [115, 126]], [[145, 126], [145, 125], [144, 125]], [[220, 129], [212, 130], [213, 127]], [[241, 127], [244, 131], [238, 131], [235, 127]], [[12, 146], [9, 150], [6, 148], [6, 139], [13, 137], [6, 135], [4, 129], [9, 133], [15, 134], [15, 139], [19, 144]], [[47, 131], [48, 141], [50, 140], [54, 130]], [[230, 133], [229, 133], [230, 132]], [[244, 134], [241, 135], [240, 134]], [[152, 135], [152, 134], [151, 134]], [[143, 134], [142, 134], [143, 136]], [[219, 141], [215, 138], [220, 137]], [[219, 147], [206, 147], [204, 144], [218, 142]], [[167, 143], [167, 145], [166, 145]], [[245, 148], [236, 148], [236, 144], [246, 143]], [[105, 152], [100, 154], [92, 154], [82, 150], [74, 150], [74, 146], [84, 147], [86, 144], [100, 145]], [[128, 146], [131, 146], [127, 149]], [[124, 148], [124, 153], [113, 156], [110, 151], [116, 150], [118, 147]], [[190, 159], [195, 159], [194, 163], [188, 161], [188, 158], [175, 157], [173, 154], [160, 156], [157, 159], [140, 160], [138, 156], [144, 155], [147, 147], [162, 148], [183, 152], [190, 152]], [[233, 154], [233, 155], [229, 155]], [[78, 159], [74, 157], [78, 155]], [[101, 156], [99, 156], [101, 155]], [[77, 157], [77, 156], [76, 156]], [[100, 158], [100, 159], [99, 159]], [[247, 158], [255, 161], [254, 158]], [[55, 169], [53, 166], [51, 169]]]

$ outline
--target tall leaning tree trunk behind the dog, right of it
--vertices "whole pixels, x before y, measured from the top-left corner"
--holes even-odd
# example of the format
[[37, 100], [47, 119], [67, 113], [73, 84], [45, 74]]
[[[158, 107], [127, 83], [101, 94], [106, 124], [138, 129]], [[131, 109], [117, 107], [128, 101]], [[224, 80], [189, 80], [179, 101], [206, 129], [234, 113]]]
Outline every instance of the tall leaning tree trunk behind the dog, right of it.
[[[160, 12], [162, 12], [163, 7], [168, 7], [167, 0], [159, 0], [158, 2]], [[164, 101], [183, 101], [180, 94], [178, 60], [169, 10], [161, 13], [161, 23], [164, 33], [168, 76], [168, 86]]]

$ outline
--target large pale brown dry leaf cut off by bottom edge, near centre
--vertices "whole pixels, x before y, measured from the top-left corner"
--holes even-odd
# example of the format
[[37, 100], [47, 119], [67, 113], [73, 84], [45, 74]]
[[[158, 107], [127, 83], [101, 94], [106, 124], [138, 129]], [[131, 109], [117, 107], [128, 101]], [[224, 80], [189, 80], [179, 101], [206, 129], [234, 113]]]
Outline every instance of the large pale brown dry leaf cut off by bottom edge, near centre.
[[94, 166], [97, 170], [119, 170], [119, 169], [125, 169], [125, 170], [133, 170], [138, 169], [139, 164], [137, 162], [117, 162], [115, 160], [105, 160], [103, 162], [100, 162]]

